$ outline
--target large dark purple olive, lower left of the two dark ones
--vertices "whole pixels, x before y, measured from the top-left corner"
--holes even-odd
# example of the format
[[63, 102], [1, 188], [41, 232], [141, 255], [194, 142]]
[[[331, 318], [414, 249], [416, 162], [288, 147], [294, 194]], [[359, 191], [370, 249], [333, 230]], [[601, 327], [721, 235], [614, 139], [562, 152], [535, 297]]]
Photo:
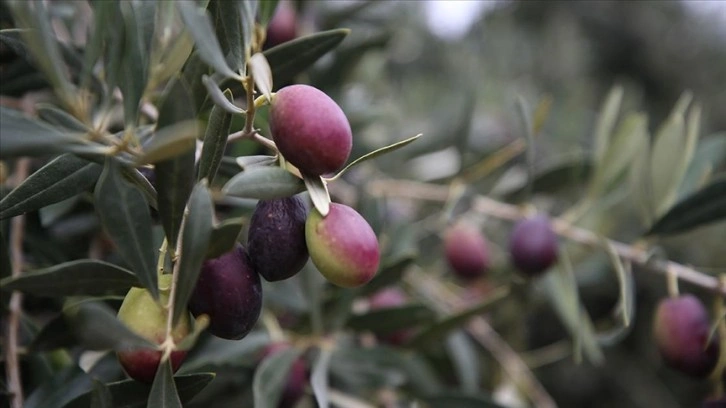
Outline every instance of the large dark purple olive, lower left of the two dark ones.
[[204, 261], [189, 310], [208, 315], [209, 332], [223, 339], [239, 340], [252, 330], [262, 310], [262, 283], [242, 245]]

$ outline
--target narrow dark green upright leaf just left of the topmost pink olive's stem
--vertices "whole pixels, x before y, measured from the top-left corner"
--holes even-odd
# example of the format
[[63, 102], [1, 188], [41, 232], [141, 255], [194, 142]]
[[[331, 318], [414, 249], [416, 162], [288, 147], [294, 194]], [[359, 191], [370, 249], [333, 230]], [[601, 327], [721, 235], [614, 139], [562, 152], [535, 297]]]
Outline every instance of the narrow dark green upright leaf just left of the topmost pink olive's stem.
[[[232, 101], [232, 92], [228, 89], [224, 92], [225, 99]], [[224, 156], [224, 149], [227, 146], [229, 127], [232, 124], [232, 115], [225, 112], [219, 106], [212, 107], [209, 114], [207, 130], [204, 132], [204, 144], [202, 154], [199, 157], [199, 174], [197, 180], [206, 178], [209, 185], [213, 185], [214, 177], [217, 176], [219, 164]]]

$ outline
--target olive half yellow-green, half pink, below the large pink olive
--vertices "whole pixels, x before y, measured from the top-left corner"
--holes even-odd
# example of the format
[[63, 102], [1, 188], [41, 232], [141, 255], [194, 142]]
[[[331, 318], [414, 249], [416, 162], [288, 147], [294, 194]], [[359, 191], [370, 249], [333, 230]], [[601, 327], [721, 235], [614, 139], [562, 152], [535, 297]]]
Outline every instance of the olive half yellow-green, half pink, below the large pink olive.
[[380, 250], [371, 226], [354, 209], [337, 203], [323, 217], [313, 209], [305, 223], [310, 259], [328, 281], [353, 288], [373, 279]]

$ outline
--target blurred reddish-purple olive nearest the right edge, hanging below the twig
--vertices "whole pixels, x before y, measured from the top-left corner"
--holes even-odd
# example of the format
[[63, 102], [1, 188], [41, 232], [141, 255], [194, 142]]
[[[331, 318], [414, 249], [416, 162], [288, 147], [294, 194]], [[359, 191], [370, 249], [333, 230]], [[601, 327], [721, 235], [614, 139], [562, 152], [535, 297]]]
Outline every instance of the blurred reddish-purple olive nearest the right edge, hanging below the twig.
[[708, 342], [708, 312], [693, 295], [663, 299], [653, 322], [653, 338], [665, 364], [692, 377], [706, 377], [716, 367], [718, 339]]

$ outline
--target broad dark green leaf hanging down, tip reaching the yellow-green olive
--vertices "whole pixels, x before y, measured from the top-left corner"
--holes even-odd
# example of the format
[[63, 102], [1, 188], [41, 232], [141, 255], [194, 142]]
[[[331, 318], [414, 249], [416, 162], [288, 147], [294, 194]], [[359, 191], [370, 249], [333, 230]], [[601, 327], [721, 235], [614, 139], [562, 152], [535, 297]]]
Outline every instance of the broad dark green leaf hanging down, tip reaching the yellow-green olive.
[[121, 257], [154, 299], [159, 298], [156, 252], [149, 204], [124, 180], [119, 165], [107, 159], [94, 192], [96, 210]]

